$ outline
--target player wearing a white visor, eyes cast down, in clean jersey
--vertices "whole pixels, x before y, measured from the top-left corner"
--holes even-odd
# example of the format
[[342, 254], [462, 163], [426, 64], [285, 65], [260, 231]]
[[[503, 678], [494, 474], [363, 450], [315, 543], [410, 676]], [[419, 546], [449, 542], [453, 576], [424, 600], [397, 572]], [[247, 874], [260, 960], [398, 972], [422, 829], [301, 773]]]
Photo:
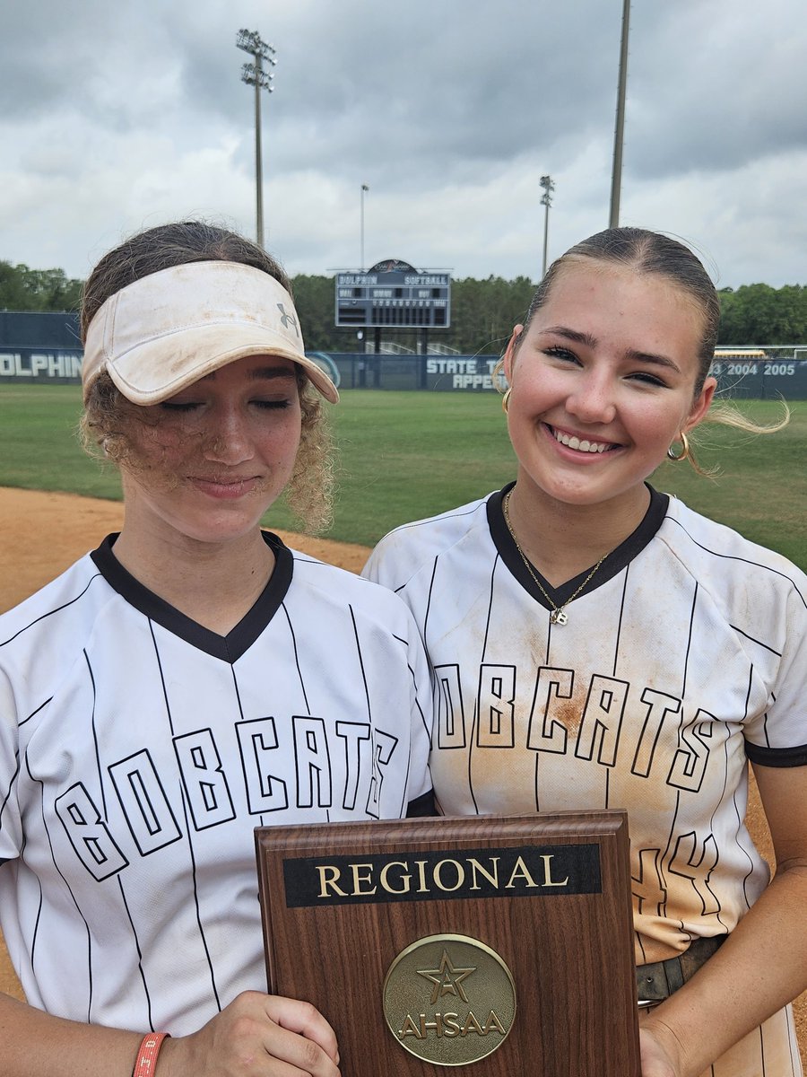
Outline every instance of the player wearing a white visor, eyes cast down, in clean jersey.
[[335, 1077], [327, 1021], [266, 993], [254, 828], [431, 805], [410, 612], [260, 528], [283, 491], [327, 517], [337, 390], [280, 266], [198, 222], [105, 255], [82, 331], [125, 522], [0, 617], [0, 927], [27, 998], [0, 997], [0, 1068]]

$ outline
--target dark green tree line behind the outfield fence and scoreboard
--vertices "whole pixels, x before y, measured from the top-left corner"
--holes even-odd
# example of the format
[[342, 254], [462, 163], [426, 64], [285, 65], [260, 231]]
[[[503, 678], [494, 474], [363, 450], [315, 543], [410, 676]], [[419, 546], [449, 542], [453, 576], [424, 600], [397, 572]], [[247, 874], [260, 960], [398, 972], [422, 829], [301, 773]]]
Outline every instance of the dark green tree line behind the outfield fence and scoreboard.
[[[77, 310], [83, 281], [62, 269], [30, 269], [0, 261], [0, 310]], [[292, 286], [310, 351], [363, 351], [355, 328], [337, 328], [332, 277], [300, 275]], [[451, 326], [429, 330], [429, 342], [447, 345], [463, 355], [498, 354], [514, 324], [524, 320], [535, 284], [527, 277], [505, 280], [472, 277], [451, 284]], [[744, 284], [720, 291], [718, 342], [793, 345], [807, 342], [807, 288]], [[365, 331], [372, 340], [372, 330]], [[416, 331], [383, 330], [384, 341], [417, 350]]]

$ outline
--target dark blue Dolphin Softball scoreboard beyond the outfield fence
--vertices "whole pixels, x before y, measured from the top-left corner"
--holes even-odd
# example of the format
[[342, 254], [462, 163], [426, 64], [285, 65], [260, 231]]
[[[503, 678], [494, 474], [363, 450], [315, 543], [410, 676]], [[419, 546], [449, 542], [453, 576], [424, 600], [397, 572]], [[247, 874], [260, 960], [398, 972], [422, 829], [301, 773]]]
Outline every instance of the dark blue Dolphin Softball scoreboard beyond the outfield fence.
[[449, 328], [451, 275], [391, 258], [336, 276], [336, 325]]

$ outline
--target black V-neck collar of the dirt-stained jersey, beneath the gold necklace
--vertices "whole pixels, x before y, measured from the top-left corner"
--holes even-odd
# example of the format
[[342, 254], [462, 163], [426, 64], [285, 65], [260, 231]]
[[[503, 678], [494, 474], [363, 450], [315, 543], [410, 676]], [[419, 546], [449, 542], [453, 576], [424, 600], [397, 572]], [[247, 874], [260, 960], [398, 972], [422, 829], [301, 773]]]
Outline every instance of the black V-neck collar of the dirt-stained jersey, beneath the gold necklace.
[[[629, 564], [631, 561], [633, 561], [634, 558], [640, 554], [642, 549], [645, 549], [659, 528], [662, 526], [662, 521], [667, 514], [669, 496], [666, 493], [659, 493], [659, 491], [654, 490], [649, 482], [646, 482], [645, 485], [650, 491], [650, 505], [641, 522], [623, 543], [621, 543], [611, 554], [608, 555], [606, 560], [597, 570], [597, 574], [582, 592], [583, 595], [587, 595], [590, 591], [595, 591], [598, 587], [607, 584], [609, 579], [613, 579], [615, 575], [622, 572], [625, 565]], [[546, 610], [551, 611], [552, 605], [547, 600], [547, 597], [541, 595], [536, 582], [529, 575], [527, 567], [524, 564], [521, 554], [519, 553], [515, 542], [513, 541], [513, 536], [510, 534], [507, 523], [505, 522], [505, 514], [501, 507], [501, 502], [504, 501], [506, 494], [509, 493], [514, 486], [515, 482], [509, 482], [506, 487], [502, 487], [501, 490], [491, 494], [487, 499], [487, 524], [491, 529], [491, 537], [493, 538], [496, 549], [499, 551], [501, 560], [505, 562], [512, 575], [519, 581], [521, 586], [533, 596], [536, 602], [539, 602]], [[569, 598], [589, 575], [591, 569], [585, 569], [579, 575], [575, 576], [574, 579], [567, 579], [565, 584], [561, 584], [560, 587], [552, 587], [552, 585], [540, 574], [540, 572], [538, 572], [535, 565], [533, 565], [533, 572], [535, 572], [541, 583], [541, 586], [546, 588], [550, 599], [557, 607], [562, 606], [565, 602], [568, 602]]]

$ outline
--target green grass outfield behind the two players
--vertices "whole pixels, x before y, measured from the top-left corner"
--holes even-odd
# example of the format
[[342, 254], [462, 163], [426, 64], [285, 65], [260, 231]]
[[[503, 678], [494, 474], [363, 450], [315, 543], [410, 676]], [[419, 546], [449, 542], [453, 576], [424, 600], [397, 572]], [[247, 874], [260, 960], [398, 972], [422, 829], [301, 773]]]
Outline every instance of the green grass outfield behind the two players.
[[[758, 421], [778, 417], [770, 402], [740, 406]], [[0, 486], [119, 498], [115, 470], [79, 446], [80, 407], [79, 387], [0, 387]], [[717, 479], [665, 463], [653, 482], [807, 569], [807, 401], [791, 407], [790, 425], [771, 436], [700, 428], [698, 456], [720, 466]], [[331, 538], [372, 545], [396, 524], [470, 501], [515, 473], [499, 401], [490, 393], [352, 390], [332, 417], [340, 480]], [[267, 522], [295, 529], [285, 506]]]

